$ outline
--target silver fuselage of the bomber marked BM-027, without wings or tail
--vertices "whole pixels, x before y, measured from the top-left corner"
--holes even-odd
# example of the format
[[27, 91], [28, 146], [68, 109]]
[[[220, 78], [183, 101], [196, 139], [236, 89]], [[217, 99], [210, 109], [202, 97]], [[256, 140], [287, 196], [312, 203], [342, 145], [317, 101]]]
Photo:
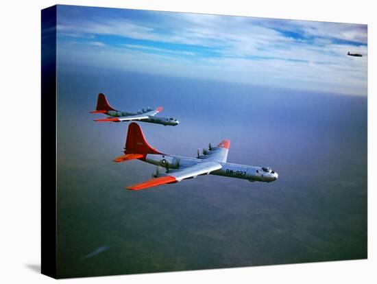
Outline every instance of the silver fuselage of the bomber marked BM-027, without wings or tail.
[[[205, 156], [204, 156], [205, 157]], [[189, 167], [197, 163], [202, 163], [206, 158], [191, 158], [186, 156], [171, 156], [167, 154], [147, 154], [143, 161], [165, 167], [167, 174], [170, 169], [180, 169], [182, 167]], [[210, 172], [216, 176], [227, 176], [230, 178], [242, 178], [251, 182], [272, 182], [278, 179], [278, 173], [269, 169], [268, 167], [256, 167], [250, 165], [239, 165], [234, 163], [221, 163], [221, 169]], [[166, 174], [160, 174], [158, 176], [165, 176]]]

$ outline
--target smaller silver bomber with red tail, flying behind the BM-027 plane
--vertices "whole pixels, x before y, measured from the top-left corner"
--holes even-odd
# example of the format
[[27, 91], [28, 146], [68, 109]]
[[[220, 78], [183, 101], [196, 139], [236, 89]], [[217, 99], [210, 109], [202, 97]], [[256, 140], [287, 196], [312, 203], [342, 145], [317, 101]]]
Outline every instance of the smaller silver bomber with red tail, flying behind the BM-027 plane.
[[94, 121], [98, 122], [143, 121], [158, 123], [164, 126], [177, 126], [180, 123], [180, 121], [178, 121], [177, 119], [156, 117], [155, 115], [160, 113], [162, 109], [162, 106], [159, 106], [155, 110], [151, 110], [150, 108], [143, 108], [142, 110], [138, 110], [137, 113], [119, 111], [110, 106], [103, 93], [99, 93], [97, 99], [97, 107], [95, 108], [95, 110], [90, 111], [90, 113], [103, 113], [104, 115], [108, 115], [106, 119], [94, 119]]

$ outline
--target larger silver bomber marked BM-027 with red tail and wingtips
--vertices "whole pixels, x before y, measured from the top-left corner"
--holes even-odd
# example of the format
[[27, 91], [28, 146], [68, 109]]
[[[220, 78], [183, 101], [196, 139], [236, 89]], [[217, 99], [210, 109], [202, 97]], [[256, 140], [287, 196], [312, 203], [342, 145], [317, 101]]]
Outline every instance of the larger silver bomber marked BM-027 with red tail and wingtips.
[[128, 126], [124, 155], [115, 158], [114, 162], [138, 159], [165, 169], [165, 173], [153, 175], [151, 180], [126, 187], [130, 190], [146, 189], [174, 182], [180, 182], [197, 176], [214, 174], [229, 178], [243, 178], [251, 182], [272, 182], [278, 179], [278, 173], [270, 167], [254, 167], [227, 163], [229, 140], [223, 140], [216, 147], [208, 145], [202, 154], [197, 151], [196, 158], [164, 154], [151, 147], [145, 140], [143, 130], [137, 123]]

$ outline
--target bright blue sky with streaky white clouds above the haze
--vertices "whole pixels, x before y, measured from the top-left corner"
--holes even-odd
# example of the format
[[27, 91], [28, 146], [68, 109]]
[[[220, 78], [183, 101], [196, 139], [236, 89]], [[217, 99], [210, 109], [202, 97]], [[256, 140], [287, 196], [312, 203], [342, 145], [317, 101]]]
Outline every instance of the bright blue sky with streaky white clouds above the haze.
[[366, 96], [367, 26], [60, 5], [58, 64]]

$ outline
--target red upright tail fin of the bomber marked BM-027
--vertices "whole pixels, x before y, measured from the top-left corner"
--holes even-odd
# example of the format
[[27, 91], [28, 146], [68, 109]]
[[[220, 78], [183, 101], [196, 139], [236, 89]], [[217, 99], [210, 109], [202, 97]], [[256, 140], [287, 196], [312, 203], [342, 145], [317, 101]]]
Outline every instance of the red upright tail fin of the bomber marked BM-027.
[[125, 154], [162, 154], [148, 144], [143, 130], [137, 123], [132, 122], [128, 126], [127, 139], [125, 141]]

